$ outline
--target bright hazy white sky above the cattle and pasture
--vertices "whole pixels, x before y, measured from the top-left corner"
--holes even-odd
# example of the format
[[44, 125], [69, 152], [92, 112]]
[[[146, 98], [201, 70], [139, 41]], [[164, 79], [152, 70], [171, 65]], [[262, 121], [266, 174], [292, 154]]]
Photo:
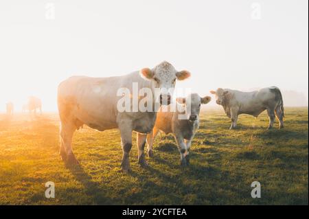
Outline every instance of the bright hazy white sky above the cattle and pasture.
[[307, 0], [10, 0], [0, 1], [0, 27], [0, 111], [29, 95], [56, 110], [69, 76], [162, 60], [191, 71], [178, 86], [201, 95], [276, 85], [308, 97]]

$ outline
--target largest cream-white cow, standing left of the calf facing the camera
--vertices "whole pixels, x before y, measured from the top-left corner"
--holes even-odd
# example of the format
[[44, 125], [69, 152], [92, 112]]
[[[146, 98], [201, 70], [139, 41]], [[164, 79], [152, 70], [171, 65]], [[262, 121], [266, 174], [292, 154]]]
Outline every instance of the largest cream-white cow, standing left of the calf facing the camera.
[[[121, 112], [117, 102], [121, 98], [117, 91], [127, 88], [133, 91], [133, 83], [138, 83], [138, 89], [155, 88], [169, 89], [175, 86], [176, 79], [188, 78], [188, 71], [176, 71], [168, 62], [161, 62], [153, 69], [141, 69], [125, 76], [109, 78], [89, 78], [83, 76], [71, 77], [58, 87], [58, 111], [61, 120], [60, 155], [62, 160], [71, 164], [78, 161], [73, 154], [71, 142], [73, 132], [83, 124], [96, 130], [119, 128], [122, 139], [122, 170], [130, 171], [129, 152], [132, 147], [132, 132], [137, 132], [138, 160], [141, 166], [146, 166], [144, 146], [146, 134], [151, 132], [157, 112]], [[170, 94], [163, 93], [160, 100]], [[155, 102], [154, 99], [152, 99]]]

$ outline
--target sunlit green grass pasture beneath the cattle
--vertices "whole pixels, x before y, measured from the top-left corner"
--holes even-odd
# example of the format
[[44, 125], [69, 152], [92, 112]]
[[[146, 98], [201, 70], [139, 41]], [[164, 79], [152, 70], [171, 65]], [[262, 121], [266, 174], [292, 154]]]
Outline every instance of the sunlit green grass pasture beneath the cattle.
[[[117, 129], [77, 131], [80, 166], [68, 168], [58, 156], [57, 115], [0, 115], [0, 205], [308, 205], [308, 108], [286, 108], [283, 130], [266, 130], [266, 113], [229, 125], [222, 111], [201, 114], [185, 170], [172, 135], [157, 137], [148, 169], [137, 164], [134, 141], [133, 172], [124, 174]], [[45, 198], [47, 181], [56, 198]], [[262, 198], [251, 198], [253, 181]]]

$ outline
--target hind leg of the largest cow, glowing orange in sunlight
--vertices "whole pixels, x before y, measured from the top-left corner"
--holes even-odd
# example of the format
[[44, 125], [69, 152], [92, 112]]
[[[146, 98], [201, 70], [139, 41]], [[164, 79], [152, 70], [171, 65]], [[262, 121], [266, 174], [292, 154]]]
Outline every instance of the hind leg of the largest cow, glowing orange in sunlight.
[[76, 126], [73, 124], [62, 122], [60, 130], [60, 156], [62, 160], [67, 161], [71, 165], [78, 164], [72, 149], [72, 138], [75, 130]]

